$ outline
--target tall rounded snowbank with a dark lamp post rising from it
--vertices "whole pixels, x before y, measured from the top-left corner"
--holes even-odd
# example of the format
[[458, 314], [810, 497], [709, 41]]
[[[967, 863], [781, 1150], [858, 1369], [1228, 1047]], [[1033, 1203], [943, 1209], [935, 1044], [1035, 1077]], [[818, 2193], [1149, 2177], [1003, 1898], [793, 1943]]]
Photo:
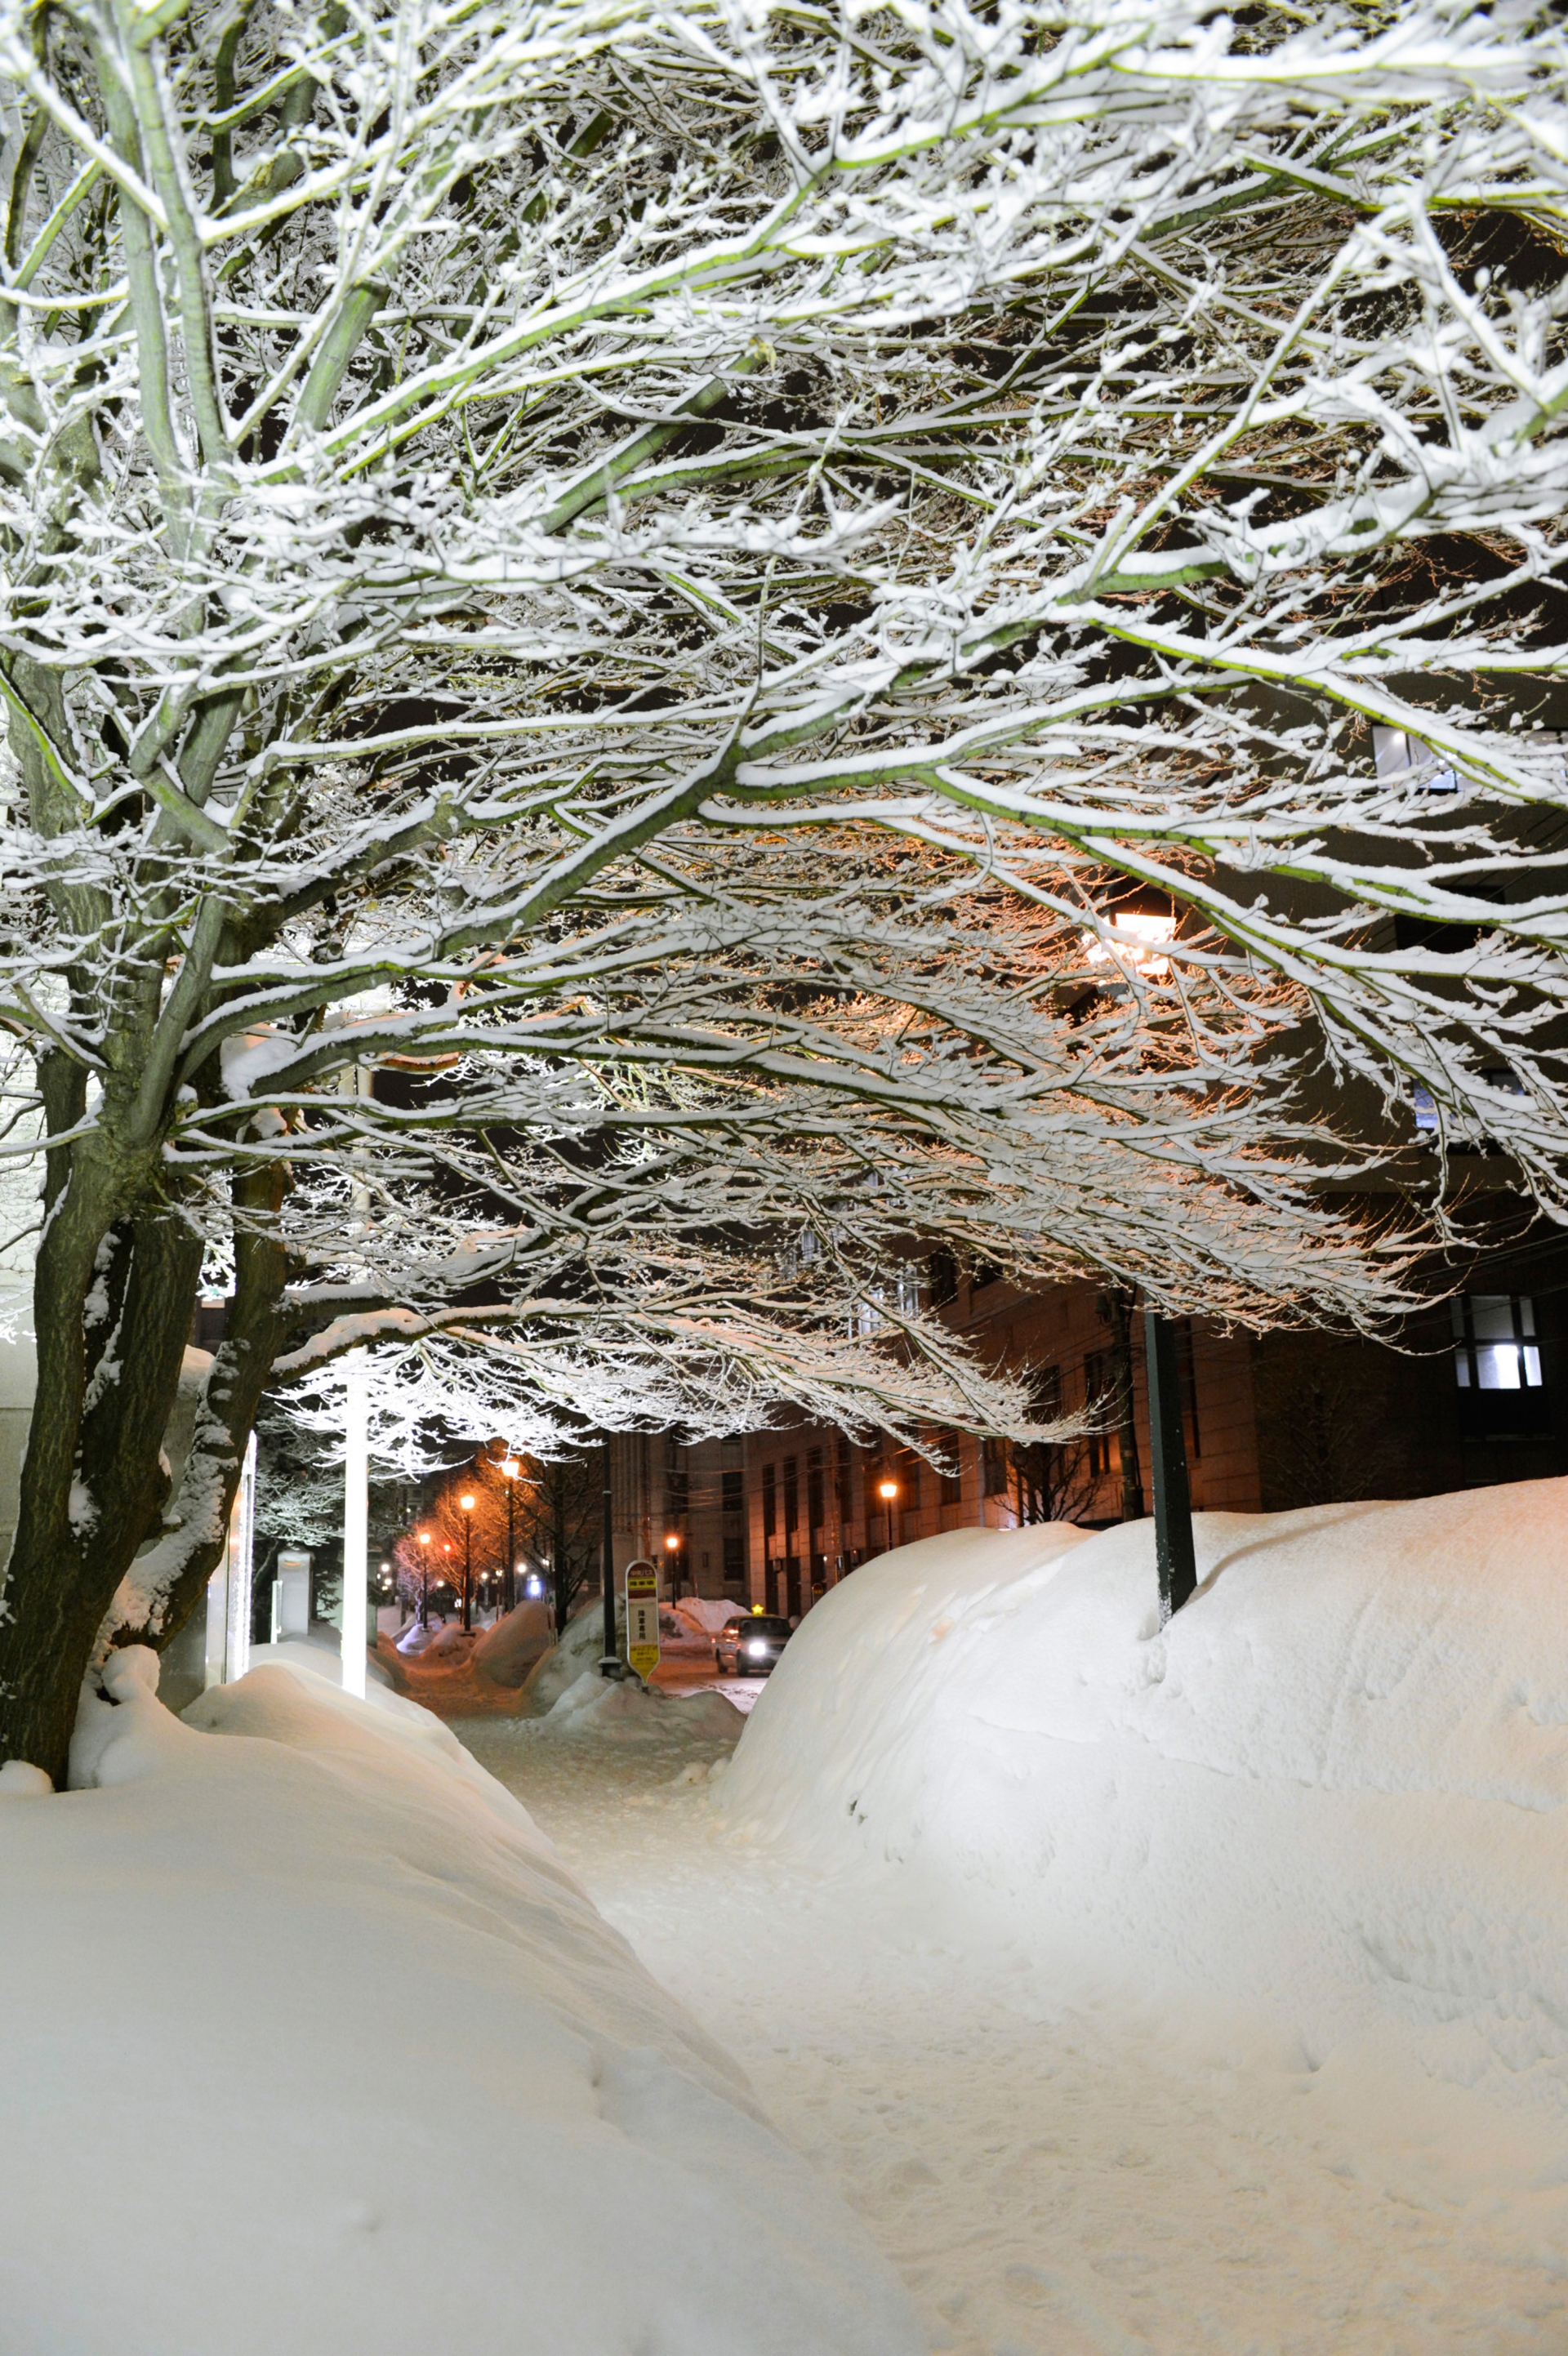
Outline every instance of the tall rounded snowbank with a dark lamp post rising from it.
[[803, 1621], [737, 1831], [935, 1878], [1088, 1974], [1394, 2038], [1568, 2116], [1568, 1482], [961, 1531]]

